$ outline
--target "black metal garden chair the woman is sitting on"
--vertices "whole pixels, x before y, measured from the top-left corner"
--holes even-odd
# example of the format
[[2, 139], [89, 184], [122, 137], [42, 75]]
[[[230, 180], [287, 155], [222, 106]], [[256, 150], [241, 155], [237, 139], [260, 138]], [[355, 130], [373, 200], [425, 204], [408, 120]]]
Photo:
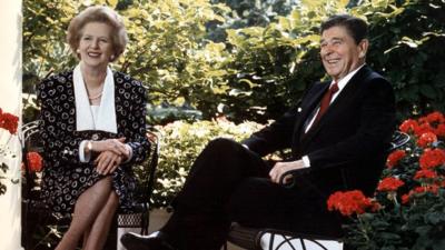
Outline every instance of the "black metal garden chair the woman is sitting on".
[[[159, 156], [159, 141], [156, 133], [156, 129], [152, 127], [147, 128], [147, 138], [151, 142], [150, 154], [147, 160], [140, 166], [134, 166], [137, 179], [140, 182], [137, 184], [135, 199], [137, 202], [131, 208], [119, 208], [112, 229], [109, 232], [107, 244], [103, 249], [112, 250], [117, 249], [118, 236], [125, 230], [135, 230], [140, 228], [141, 234], [148, 233], [149, 224], [149, 207], [150, 197], [155, 183], [155, 171], [158, 164]], [[70, 214], [60, 214], [51, 212], [47, 204], [40, 199], [40, 178], [38, 174], [32, 172], [29, 168], [29, 159], [27, 154], [29, 152], [42, 153], [42, 146], [39, 138], [38, 121], [32, 121], [22, 126], [21, 133], [22, 142], [22, 162], [23, 162], [23, 174], [24, 179], [22, 182], [22, 247], [24, 249], [34, 249], [34, 246], [40, 242], [36, 242], [32, 236], [36, 233], [56, 233], [55, 227], [67, 229], [70, 221]], [[44, 168], [44, 166], [43, 166]], [[46, 226], [52, 228], [47, 232], [39, 232], [39, 226]]]

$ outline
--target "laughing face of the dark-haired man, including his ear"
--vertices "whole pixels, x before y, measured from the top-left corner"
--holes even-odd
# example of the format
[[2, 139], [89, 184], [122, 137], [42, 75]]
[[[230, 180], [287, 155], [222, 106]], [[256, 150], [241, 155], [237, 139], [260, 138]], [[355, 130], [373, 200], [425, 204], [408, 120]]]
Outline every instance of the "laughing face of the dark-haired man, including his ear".
[[332, 27], [322, 33], [320, 56], [326, 72], [339, 80], [365, 62], [367, 40], [358, 44], [343, 26]]

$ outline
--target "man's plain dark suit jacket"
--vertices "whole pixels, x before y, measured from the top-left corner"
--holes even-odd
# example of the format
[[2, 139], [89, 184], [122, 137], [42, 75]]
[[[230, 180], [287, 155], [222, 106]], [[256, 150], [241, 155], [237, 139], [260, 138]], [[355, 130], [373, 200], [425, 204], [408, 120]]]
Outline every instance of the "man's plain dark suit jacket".
[[330, 82], [317, 82], [300, 102], [269, 127], [245, 140], [265, 156], [291, 148], [293, 159], [308, 156], [310, 168], [297, 186], [320, 199], [336, 190], [374, 192], [385, 164], [395, 128], [395, 100], [388, 81], [364, 66], [349, 80], [317, 124], [304, 134], [304, 124], [317, 108]]

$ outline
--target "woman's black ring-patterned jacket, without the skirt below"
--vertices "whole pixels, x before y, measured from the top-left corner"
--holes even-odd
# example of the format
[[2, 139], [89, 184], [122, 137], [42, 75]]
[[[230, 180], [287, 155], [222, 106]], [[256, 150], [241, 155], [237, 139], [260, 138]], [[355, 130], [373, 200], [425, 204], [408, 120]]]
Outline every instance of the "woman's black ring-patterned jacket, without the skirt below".
[[40, 136], [46, 168], [82, 164], [79, 144], [82, 140], [126, 138], [132, 158], [126, 164], [141, 162], [150, 143], [146, 137], [146, 91], [144, 86], [121, 72], [113, 72], [117, 134], [106, 131], [76, 131], [76, 103], [72, 71], [44, 79], [38, 86]]

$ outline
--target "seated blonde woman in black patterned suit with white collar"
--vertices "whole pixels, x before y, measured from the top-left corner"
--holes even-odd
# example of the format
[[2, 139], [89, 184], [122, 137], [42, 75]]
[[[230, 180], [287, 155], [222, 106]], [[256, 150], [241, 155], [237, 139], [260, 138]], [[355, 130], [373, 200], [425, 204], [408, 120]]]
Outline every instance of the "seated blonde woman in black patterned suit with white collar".
[[83, 250], [98, 250], [118, 206], [131, 203], [131, 164], [149, 150], [146, 92], [139, 81], [108, 67], [128, 40], [113, 10], [87, 8], [71, 20], [67, 39], [79, 64], [38, 88], [42, 193], [55, 212], [72, 213], [56, 249], [76, 249], [83, 237]]

